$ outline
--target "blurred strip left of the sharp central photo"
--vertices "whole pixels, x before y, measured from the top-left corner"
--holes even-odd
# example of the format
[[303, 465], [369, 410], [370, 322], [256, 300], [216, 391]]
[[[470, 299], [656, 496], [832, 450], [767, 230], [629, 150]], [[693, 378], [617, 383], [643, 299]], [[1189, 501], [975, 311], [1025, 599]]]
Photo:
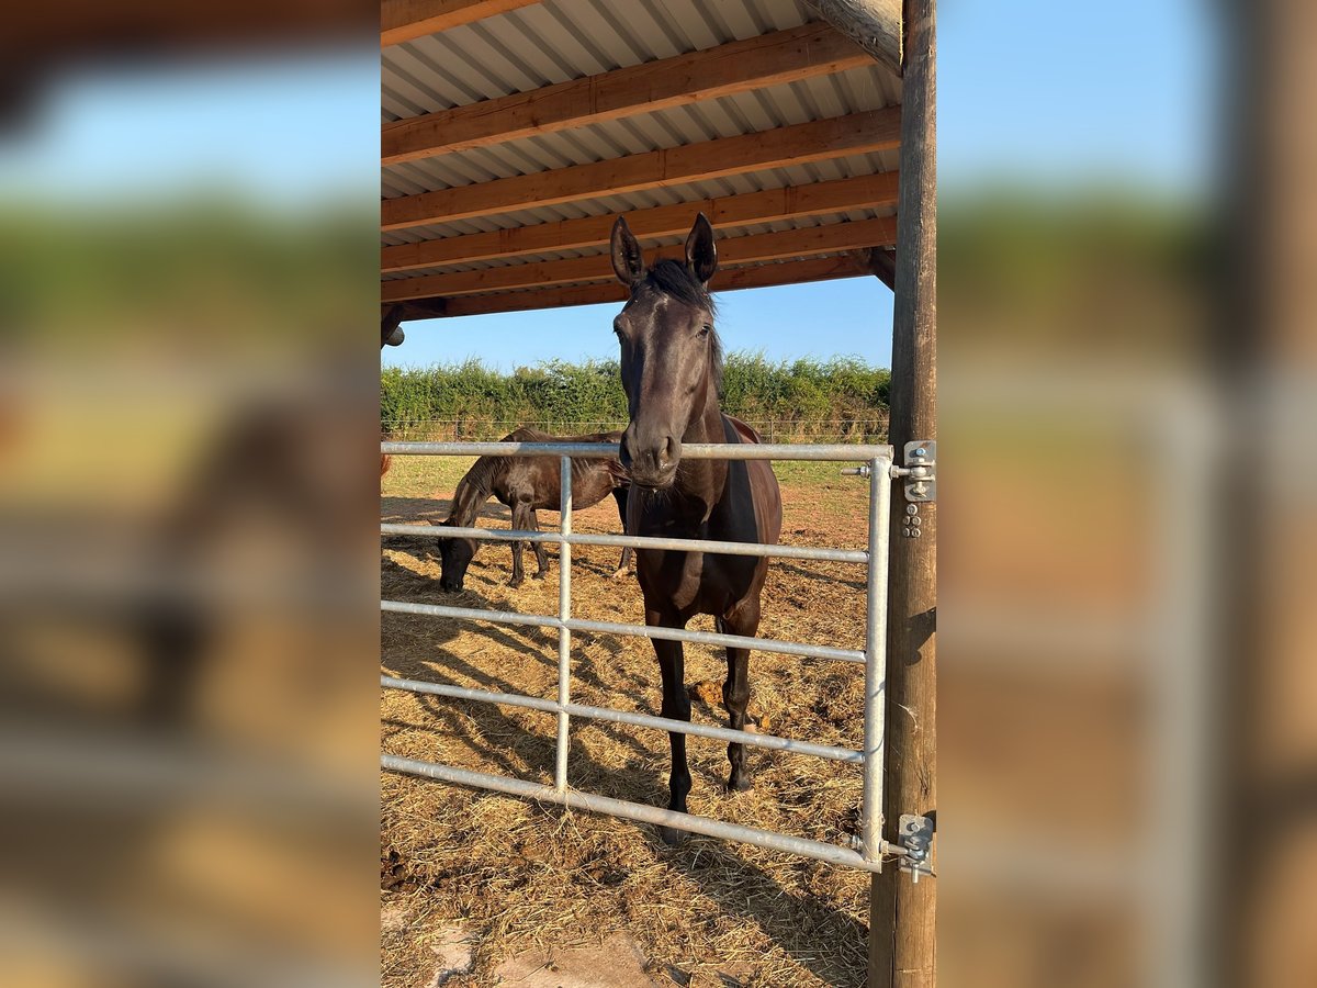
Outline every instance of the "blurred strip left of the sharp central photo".
[[378, 8], [0, 63], [0, 983], [369, 984]]

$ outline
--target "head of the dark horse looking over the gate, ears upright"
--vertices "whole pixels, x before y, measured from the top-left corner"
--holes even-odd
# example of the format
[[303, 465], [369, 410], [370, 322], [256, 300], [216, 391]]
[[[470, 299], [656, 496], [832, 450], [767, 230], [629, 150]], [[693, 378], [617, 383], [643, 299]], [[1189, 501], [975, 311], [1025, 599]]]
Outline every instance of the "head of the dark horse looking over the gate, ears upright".
[[622, 465], [640, 487], [670, 487], [681, 437], [712, 398], [722, 375], [709, 279], [718, 270], [714, 228], [703, 213], [686, 237], [686, 262], [645, 267], [627, 221], [612, 227], [612, 270], [631, 300], [612, 320], [622, 344], [622, 387], [631, 422], [622, 435]]

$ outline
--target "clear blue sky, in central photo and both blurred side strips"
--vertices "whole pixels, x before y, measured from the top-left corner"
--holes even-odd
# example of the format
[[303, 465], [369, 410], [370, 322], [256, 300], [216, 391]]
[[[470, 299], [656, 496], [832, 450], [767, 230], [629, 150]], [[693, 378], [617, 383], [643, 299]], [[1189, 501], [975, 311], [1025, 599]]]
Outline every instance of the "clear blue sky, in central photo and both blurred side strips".
[[[943, 0], [944, 190], [1006, 177], [1137, 179], [1200, 190], [1213, 158], [1210, 4]], [[0, 198], [238, 191], [282, 208], [378, 198], [378, 47], [99, 71], [47, 88], [37, 126], [0, 142]], [[890, 364], [892, 294], [874, 278], [727, 292], [730, 349]], [[407, 325], [389, 365], [478, 357], [499, 368], [614, 356], [616, 306]]]

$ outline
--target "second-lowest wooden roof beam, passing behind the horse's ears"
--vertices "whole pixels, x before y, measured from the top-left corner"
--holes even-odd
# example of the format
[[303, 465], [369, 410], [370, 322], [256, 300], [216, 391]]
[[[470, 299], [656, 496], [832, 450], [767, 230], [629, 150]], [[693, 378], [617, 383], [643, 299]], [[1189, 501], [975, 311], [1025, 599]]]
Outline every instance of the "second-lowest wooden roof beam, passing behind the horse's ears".
[[[871, 244], [894, 244], [896, 236], [897, 221], [896, 217], [890, 216], [855, 223], [834, 223], [827, 227], [759, 233], [751, 237], [726, 237], [718, 242], [718, 260], [726, 265], [781, 261], [792, 257], [855, 250]], [[680, 257], [681, 248], [673, 248], [666, 253], [670, 257]], [[608, 254], [593, 254], [565, 261], [429, 274], [421, 278], [399, 278], [381, 285], [381, 298], [385, 302], [435, 296], [452, 298], [511, 288], [612, 281], [615, 277]]]

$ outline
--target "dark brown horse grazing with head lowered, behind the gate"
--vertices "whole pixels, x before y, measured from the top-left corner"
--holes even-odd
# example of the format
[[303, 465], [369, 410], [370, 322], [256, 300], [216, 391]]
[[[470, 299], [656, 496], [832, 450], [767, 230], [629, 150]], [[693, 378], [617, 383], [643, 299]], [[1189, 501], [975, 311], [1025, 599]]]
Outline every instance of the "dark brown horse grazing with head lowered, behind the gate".
[[[519, 428], [500, 439], [500, 443], [616, 443], [620, 432], [594, 432], [587, 436], [551, 436], [536, 429]], [[539, 531], [537, 508], [557, 511], [562, 493], [561, 461], [556, 456], [482, 456], [466, 476], [457, 482], [453, 493], [453, 507], [443, 524], [469, 528], [475, 523], [475, 515], [491, 497], [512, 508], [512, 528]], [[598, 505], [608, 494], [618, 502], [618, 515], [623, 526], [627, 522], [627, 477], [616, 460], [573, 458], [572, 460], [572, 507], [582, 508]], [[440, 578], [444, 590], [461, 590], [466, 580], [466, 568], [475, 556], [475, 539], [439, 539]], [[532, 543], [535, 559], [539, 563], [536, 580], [543, 580], [549, 569], [544, 543]], [[520, 586], [525, 578], [522, 569], [523, 543], [512, 543], [512, 580], [508, 586]], [[622, 560], [614, 577], [627, 572], [631, 549], [622, 551]]]

